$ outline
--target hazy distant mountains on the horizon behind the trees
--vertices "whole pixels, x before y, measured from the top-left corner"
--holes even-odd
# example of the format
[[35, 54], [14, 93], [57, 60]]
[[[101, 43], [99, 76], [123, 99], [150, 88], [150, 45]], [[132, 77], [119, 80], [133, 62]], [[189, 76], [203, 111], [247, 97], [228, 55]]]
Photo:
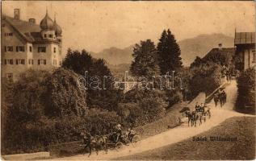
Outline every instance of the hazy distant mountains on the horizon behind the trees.
[[[233, 47], [233, 38], [223, 34], [211, 34], [198, 35], [191, 39], [179, 41], [183, 65], [189, 66], [195, 60], [195, 56], [205, 56], [213, 47], [217, 47], [219, 43], [222, 43], [223, 47]], [[124, 49], [110, 47], [102, 52], [90, 52], [90, 54], [95, 58], [103, 58], [108, 64], [118, 65], [131, 64], [132, 52], [133, 45]]]

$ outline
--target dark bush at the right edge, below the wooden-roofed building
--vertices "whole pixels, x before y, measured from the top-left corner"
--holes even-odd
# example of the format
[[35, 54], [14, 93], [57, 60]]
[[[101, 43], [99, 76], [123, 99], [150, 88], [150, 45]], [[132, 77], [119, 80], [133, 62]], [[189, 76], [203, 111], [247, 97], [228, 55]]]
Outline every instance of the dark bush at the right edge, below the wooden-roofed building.
[[255, 107], [255, 69], [248, 68], [241, 72], [237, 78], [237, 109], [246, 109], [248, 112], [254, 111]]

